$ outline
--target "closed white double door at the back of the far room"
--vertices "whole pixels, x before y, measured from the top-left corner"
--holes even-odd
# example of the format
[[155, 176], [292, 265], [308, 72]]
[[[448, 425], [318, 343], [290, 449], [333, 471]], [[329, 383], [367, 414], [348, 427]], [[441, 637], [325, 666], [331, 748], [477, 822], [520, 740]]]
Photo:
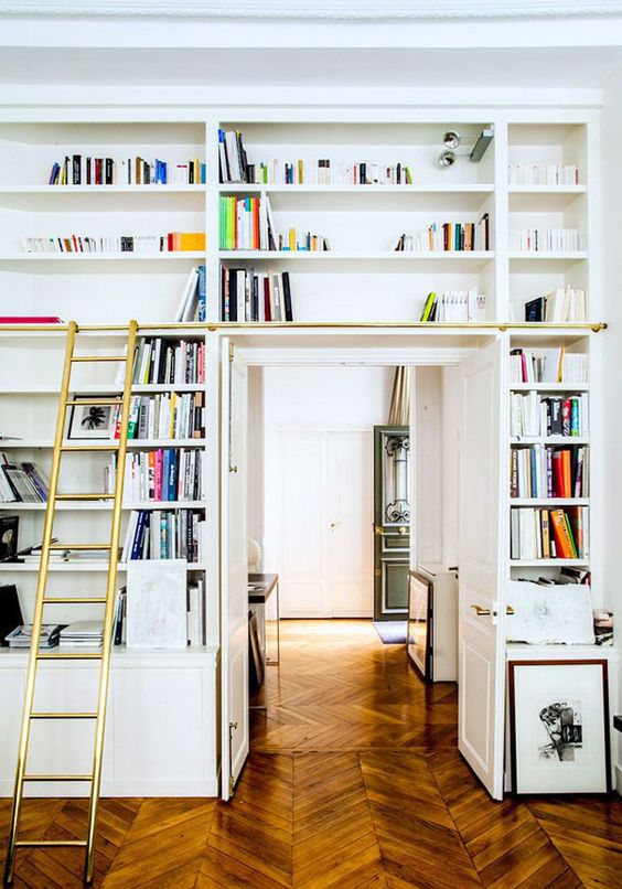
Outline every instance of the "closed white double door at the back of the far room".
[[372, 429], [278, 431], [272, 504], [285, 618], [371, 618]]

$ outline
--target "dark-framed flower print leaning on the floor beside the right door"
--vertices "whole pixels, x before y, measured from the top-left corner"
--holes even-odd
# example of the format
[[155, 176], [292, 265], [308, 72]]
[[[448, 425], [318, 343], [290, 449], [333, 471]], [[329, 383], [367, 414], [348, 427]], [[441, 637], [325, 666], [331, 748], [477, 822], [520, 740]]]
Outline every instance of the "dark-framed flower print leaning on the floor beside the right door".
[[511, 661], [514, 793], [611, 790], [607, 661]]

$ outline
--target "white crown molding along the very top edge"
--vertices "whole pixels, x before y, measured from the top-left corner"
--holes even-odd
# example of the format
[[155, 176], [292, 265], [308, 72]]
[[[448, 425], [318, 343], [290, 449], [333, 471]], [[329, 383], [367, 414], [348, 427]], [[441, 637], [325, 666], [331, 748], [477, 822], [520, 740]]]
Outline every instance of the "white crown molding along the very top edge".
[[619, 0], [3, 0], [1, 17], [175, 18], [175, 19], [304, 19], [353, 21], [443, 21], [556, 19], [622, 15]]

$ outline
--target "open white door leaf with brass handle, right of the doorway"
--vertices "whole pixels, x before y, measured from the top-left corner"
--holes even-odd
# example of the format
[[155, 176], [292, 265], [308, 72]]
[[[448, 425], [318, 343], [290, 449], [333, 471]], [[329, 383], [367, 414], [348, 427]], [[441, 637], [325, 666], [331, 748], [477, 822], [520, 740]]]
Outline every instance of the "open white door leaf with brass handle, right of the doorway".
[[503, 797], [505, 663], [502, 564], [503, 339], [461, 364], [460, 752]]

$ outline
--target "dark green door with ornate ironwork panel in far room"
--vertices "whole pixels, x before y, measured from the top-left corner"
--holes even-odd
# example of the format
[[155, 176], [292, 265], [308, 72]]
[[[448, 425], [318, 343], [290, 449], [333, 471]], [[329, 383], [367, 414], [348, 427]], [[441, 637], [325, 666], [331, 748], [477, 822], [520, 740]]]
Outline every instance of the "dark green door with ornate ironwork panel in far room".
[[408, 613], [408, 426], [374, 427], [374, 620]]

